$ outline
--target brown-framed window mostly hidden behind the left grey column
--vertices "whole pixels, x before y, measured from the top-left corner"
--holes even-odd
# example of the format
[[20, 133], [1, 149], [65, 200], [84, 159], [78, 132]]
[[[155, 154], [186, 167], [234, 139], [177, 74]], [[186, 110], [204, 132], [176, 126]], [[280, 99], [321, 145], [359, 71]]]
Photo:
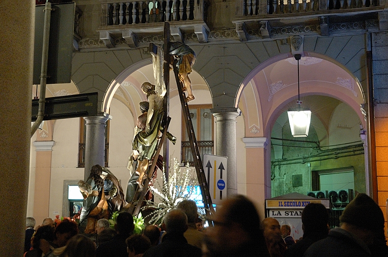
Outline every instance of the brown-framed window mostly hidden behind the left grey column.
[[[109, 121], [106, 121], [105, 126], [105, 151], [104, 151], [104, 167], [108, 166], [109, 157]], [[78, 166], [77, 168], [85, 168], [85, 144], [86, 143], [86, 122], [84, 118], [79, 118], [79, 144], [78, 144]]]

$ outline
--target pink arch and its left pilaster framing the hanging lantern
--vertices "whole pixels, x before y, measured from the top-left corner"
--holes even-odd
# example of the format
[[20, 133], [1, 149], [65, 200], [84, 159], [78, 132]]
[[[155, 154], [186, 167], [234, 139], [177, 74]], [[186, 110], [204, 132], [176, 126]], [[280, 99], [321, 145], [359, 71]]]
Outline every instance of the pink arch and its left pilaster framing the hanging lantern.
[[[307, 95], [324, 95], [341, 100], [357, 113], [365, 127], [364, 116], [360, 110], [360, 104], [365, 103], [365, 98], [359, 79], [346, 66], [328, 56], [306, 51], [304, 56], [319, 58], [321, 62], [325, 62], [326, 65], [331, 67], [330, 69], [340, 72], [341, 76], [346, 75], [346, 78], [337, 81], [337, 77], [335, 77], [335, 81], [321, 83], [322, 78], [309, 80], [306, 76], [300, 76], [301, 98]], [[271, 197], [269, 176], [271, 129], [284, 109], [288, 109], [290, 103], [295, 103], [294, 100], [297, 99], [297, 70], [294, 73], [284, 73], [282, 78], [279, 77], [279, 70], [283, 68], [280, 65], [284, 64], [287, 59], [293, 59], [290, 52], [275, 55], [261, 62], [245, 77], [236, 97], [238, 107], [244, 112], [245, 136], [247, 137], [244, 139], [247, 162], [246, 181], [252, 182], [249, 185], [247, 184], [246, 192], [248, 196], [256, 198], [260, 205], [264, 203], [264, 199]], [[296, 69], [296, 66], [294, 67]], [[305, 67], [303, 66], [303, 68]], [[274, 73], [271, 74], [268, 69], [274, 71]], [[278, 70], [276, 71], [276, 69]], [[295, 81], [289, 82], [286, 80], [287, 78], [293, 78]], [[352, 85], [352, 87], [342, 85], [341, 83], [344, 81], [351, 82], [349, 85]], [[306, 85], [307, 83], [314, 86]], [[269, 85], [273, 86], [273, 90]], [[257, 107], [253, 103], [244, 103], [246, 90], [254, 92]], [[252, 95], [251, 98], [253, 98]], [[252, 127], [250, 120], [261, 121], [260, 128], [258, 128], [259, 133], [250, 133], [250, 127]], [[255, 145], [250, 144], [251, 142], [255, 142]], [[252, 163], [255, 158], [257, 162]], [[250, 167], [248, 167], [248, 164]], [[256, 169], [256, 172], [250, 172], [251, 168]], [[259, 180], [257, 179], [258, 176]]]

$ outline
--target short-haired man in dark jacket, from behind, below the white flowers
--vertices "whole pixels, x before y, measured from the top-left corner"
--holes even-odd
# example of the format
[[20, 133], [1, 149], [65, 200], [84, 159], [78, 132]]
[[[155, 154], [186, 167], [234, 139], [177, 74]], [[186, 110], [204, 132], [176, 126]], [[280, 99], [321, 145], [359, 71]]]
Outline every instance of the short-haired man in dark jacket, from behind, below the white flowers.
[[202, 251], [187, 243], [183, 233], [187, 230], [187, 216], [183, 211], [172, 209], [165, 216], [166, 234], [161, 244], [148, 249], [143, 257], [201, 257]]

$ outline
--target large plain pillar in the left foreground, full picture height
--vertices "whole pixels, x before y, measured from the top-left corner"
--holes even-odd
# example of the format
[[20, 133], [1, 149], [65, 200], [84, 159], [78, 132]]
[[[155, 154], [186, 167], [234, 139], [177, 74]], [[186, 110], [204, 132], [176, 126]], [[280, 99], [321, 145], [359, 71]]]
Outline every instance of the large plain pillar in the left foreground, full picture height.
[[30, 174], [34, 3], [0, 1], [0, 253], [15, 257], [23, 255]]

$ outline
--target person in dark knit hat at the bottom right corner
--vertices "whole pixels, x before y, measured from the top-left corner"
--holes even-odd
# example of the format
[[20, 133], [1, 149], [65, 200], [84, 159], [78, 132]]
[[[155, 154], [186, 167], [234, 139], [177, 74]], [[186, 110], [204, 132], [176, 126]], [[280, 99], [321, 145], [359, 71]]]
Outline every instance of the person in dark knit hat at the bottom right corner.
[[312, 244], [305, 257], [384, 256], [384, 216], [380, 207], [366, 194], [358, 194], [340, 217], [340, 227]]

